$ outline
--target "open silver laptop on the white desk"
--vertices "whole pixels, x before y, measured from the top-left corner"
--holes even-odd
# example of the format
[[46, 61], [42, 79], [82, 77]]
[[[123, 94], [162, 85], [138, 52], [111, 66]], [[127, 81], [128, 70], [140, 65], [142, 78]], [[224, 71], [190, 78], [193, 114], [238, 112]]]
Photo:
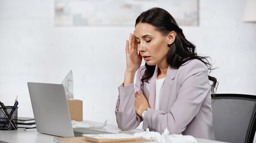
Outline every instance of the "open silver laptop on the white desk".
[[94, 129], [72, 128], [63, 85], [28, 82], [28, 89], [38, 132], [62, 137], [110, 133]]

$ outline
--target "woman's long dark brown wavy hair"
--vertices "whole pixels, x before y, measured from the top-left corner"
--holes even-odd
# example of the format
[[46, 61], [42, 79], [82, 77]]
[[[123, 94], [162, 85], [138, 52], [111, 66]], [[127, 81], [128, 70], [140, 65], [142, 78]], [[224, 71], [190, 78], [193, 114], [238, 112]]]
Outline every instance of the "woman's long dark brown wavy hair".
[[[176, 32], [175, 41], [171, 43], [171, 45], [168, 45], [170, 49], [167, 53], [167, 63], [174, 69], [179, 69], [179, 67], [186, 63], [186, 61], [197, 59], [206, 64], [210, 71], [213, 70], [212, 64], [210, 64], [209, 60], [207, 60], [209, 57], [197, 55], [197, 52], [195, 52], [195, 45], [185, 38], [182, 29], [180, 29], [174, 18], [167, 11], [163, 10], [162, 8], [152, 8], [144, 11], [137, 17], [135, 26], [138, 23], [151, 24], [152, 26], [155, 26], [156, 30], [161, 32], [162, 35], [167, 35], [171, 31]], [[146, 70], [141, 82], [148, 82], [155, 71], [155, 66], [149, 66], [147, 63], [145, 63], [145, 66]], [[214, 96], [218, 82], [215, 77], [208, 76], [208, 78], [210, 81], [212, 81], [212, 88], [210, 91]]]

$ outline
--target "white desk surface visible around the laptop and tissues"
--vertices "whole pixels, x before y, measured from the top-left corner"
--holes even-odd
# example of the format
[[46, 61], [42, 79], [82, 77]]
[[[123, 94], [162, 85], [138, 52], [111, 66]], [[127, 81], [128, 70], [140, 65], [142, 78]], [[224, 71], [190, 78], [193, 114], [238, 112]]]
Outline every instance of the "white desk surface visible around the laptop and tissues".
[[[98, 130], [104, 130], [107, 132], [113, 132], [113, 133], [129, 133], [133, 134], [136, 132], [143, 131], [142, 129], [134, 129], [134, 130], [120, 130], [116, 125], [107, 125], [103, 129]], [[0, 143], [2, 142], [27, 142], [27, 143], [43, 143], [43, 142], [54, 142], [53, 139], [55, 136], [52, 135], [45, 135], [43, 133], [38, 133], [37, 131], [25, 131], [23, 129], [17, 129], [17, 130], [0, 130]], [[2, 141], [2, 142], [1, 142]], [[218, 141], [211, 141], [207, 139], [197, 139], [199, 143], [220, 143]]]

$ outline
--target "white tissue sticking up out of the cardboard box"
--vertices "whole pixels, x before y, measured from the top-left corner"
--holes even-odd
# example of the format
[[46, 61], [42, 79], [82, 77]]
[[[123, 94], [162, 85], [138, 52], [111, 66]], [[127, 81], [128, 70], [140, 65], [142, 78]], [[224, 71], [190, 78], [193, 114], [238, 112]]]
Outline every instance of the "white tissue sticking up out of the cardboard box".
[[67, 74], [65, 79], [61, 82], [62, 85], [64, 85], [65, 93], [67, 100], [73, 100], [74, 94], [73, 94], [73, 73], [72, 70]]

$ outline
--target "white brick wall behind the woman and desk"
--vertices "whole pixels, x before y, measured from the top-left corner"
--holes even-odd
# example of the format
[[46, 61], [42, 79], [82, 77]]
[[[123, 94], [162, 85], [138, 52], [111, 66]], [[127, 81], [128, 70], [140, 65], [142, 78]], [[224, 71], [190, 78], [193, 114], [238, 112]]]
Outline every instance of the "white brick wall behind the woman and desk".
[[[198, 54], [212, 57], [218, 93], [256, 95], [256, 23], [243, 23], [243, 0], [203, 0], [200, 25], [181, 26]], [[27, 82], [61, 83], [74, 75], [84, 119], [116, 124], [125, 41], [134, 27], [55, 27], [53, 1], [0, 0], [0, 100], [33, 116]]]

